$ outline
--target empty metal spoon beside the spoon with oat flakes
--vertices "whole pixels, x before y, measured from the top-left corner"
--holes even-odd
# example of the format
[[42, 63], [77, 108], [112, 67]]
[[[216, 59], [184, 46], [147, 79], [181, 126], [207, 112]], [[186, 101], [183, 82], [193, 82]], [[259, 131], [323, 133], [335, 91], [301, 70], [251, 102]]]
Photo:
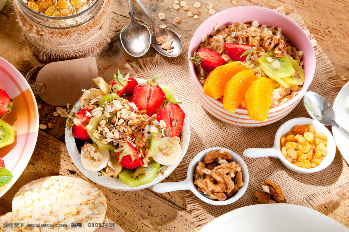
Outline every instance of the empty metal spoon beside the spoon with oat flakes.
[[[132, 0], [128, 0], [131, 23], [125, 26], [120, 33], [121, 45], [131, 56], [139, 57], [146, 54], [150, 47], [150, 31], [146, 25], [137, 23], [134, 19]], [[132, 12], [132, 14], [130, 14]]]

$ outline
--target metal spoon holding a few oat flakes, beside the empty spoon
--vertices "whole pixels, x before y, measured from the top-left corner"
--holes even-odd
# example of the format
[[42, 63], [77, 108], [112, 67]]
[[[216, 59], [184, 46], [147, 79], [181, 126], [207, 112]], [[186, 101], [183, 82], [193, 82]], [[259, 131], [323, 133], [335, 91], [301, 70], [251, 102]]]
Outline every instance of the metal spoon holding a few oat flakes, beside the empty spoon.
[[[151, 33], [151, 45], [157, 50], [158, 53], [168, 56], [168, 57], [176, 57], [182, 52], [182, 41], [180, 40], [178, 34], [171, 29], [168, 28], [160, 28], [158, 27], [153, 18], [150, 17], [150, 14], [148, 10], [144, 7], [142, 2], [140, 0], [136, 0], [138, 5], [142, 8], [144, 13], [146, 13], [147, 17], [151, 21], [151, 25], [153, 26], [153, 32]], [[173, 38], [172, 46], [173, 46], [173, 51], [171, 53], [168, 53], [167, 50], [162, 49], [161, 45], [158, 45], [156, 43], [156, 38], [161, 37], [163, 35], [167, 35], [168, 37]]]

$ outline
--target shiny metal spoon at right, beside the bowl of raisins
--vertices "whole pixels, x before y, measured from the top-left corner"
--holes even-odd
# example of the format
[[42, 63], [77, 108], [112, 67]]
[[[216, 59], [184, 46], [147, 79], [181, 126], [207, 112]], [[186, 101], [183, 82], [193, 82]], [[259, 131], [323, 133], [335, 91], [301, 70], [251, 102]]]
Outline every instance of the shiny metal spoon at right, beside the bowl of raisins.
[[339, 126], [334, 121], [334, 111], [331, 104], [321, 95], [314, 92], [306, 92], [304, 97], [304, 106], [310, 117], [319, 120], [322, 125], [334, 126], [343, 131], [344, 134], [349, 136], [349, 131]]

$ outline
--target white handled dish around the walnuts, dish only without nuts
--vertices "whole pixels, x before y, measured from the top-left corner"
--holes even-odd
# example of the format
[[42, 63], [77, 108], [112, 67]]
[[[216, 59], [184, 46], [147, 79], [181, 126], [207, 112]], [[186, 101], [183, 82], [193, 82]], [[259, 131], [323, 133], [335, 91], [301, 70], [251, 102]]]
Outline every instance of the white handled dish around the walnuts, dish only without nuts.
[[[244, 185], [233, 195], [231, 198], [228, 198], [227, 200], [224, 201], [218, 201], [214, 199], [210, 199], [209, 197], [205, 197], [203, 193], [198, 191], [198, 187], [194, 185], [194, 173], [195, 169], [198, 166], [198, 163], [201, 161], [203, 162], [205, 159], [205, 156], [208, 152], [214, 151], [214, 150], [224, 150], [225, 152], [228, 152], [231, 155], [231, 161], [235, 161], [241, 166], [241, 172], [243, 174], [242, 181], [244, 182]], [[198, 197], [200, 200], [203, 202], [206, 202], [210, 205], [214, 206], [224, 206], [224, 205], [229, 205], [244, 195], [248, 185], [248, 170], [246, 163], [242, 158], [239, 157], [238, 154], [236, 154], [233, 151], [230, 151], [228, 149], [222, 148], [222, 147], [212, 147], [206, 150], [203, 150], [199, 154], [195, 155], [195, 157], [190, 161], [189, 166], [188, 166], [188, 172], [187, 172], [187, 178], [184, 181], [180, 182], [167, 182], [167, 183], [159, 183], [154, 185], [153, 191], [158, 192], [158, 193], [165, 193], [165, 192], [172, 192], [172, 191], [178, 191], [178, 190], [190, 190], [192, 191], [196, 197]]]

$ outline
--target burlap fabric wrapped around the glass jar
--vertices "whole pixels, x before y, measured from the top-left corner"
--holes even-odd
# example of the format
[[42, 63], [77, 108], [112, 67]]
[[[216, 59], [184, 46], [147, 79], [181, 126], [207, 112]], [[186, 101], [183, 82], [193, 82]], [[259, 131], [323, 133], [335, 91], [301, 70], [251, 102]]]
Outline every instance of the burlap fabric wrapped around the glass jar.
[[112, 29], [111, 0], [87, 24], [72, 29], [50, 29], [40, 26], [23, 16], [15, 0], [10, 0], [17, 15], [17, 22], [29, 49], [43, 62], [76, 59], [94, 55], [110, 42]]

